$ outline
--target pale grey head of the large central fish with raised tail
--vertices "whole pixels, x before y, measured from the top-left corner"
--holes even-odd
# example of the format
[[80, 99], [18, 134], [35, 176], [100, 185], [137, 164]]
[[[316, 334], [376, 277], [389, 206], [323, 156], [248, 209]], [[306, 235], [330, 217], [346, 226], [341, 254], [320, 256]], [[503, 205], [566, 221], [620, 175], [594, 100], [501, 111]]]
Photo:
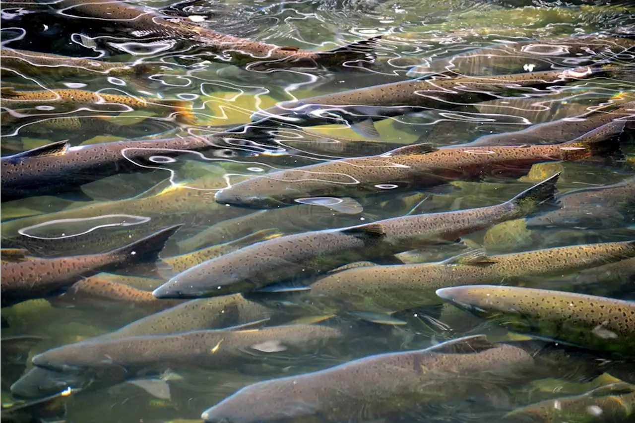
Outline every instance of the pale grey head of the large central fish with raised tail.
[[[215, 274], [213, 269], [215, 266], [211, 265], [209, 269], [199, 266], [177, 274], [156, 288], [152, 295], [157, 299], [197, 299], [247, 292], [257, 287], [257, 284], [239, 273], [218, 272]], [[206, 276], [201, 278], [201, 272], [204, 272]]]

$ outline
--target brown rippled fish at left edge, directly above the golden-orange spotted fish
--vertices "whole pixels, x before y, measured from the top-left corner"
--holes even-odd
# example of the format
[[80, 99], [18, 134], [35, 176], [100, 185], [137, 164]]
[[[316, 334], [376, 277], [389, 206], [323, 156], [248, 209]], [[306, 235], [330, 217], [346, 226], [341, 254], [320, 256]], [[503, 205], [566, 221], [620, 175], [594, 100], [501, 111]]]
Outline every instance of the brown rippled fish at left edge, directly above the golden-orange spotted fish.
[[152, 70], [152, 65], [144, 63], [103, 62], [95, 58], [69, 57], [14, 48], [0, 48], [0, 62], [3, 65], [3, 69], [0, 69], [2, 77], [17, 74], [35, 77], [41, 77], [43, 74], [73, 77], [91, 73], [109, 76], [143, 76]]

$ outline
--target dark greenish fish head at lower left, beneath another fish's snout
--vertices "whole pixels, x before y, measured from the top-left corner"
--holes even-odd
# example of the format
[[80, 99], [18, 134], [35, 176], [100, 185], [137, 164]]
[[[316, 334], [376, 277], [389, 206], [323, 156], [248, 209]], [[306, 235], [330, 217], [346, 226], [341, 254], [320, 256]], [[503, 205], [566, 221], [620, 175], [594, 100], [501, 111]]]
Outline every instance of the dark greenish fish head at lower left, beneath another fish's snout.
[[69, 388], [83, 389], [91, 382], [92, 379], [87, 375], [53, 372], [34, 367], [11, 385], [11, 395], [15, 398], [42, 398]]

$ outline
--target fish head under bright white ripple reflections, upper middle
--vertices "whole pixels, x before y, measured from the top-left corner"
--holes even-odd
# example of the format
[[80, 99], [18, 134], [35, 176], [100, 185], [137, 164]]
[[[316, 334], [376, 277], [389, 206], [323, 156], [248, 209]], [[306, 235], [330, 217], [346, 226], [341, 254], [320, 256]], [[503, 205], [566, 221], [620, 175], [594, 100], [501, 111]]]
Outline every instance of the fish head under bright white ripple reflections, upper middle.
[[346, 123], [342, 116], [346, 112], [342, 107], [311, 104], [302, 101], [283, 102], [257, 111], [251, 115], [252, 123], [290, 124], [297, 126], [314, 126], [323, 124]]

